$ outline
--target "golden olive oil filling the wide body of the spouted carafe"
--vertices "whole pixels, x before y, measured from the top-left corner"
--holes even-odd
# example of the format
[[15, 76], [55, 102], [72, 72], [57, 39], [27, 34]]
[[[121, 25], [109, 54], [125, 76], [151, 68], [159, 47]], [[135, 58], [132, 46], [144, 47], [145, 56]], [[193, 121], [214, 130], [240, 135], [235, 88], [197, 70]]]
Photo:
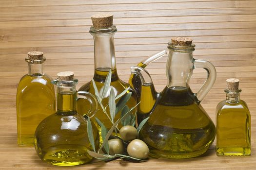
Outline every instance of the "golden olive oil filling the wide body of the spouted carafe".
[[139, 138], [146, 142], [153, 157], [181, 159], [201, 155], [215, 139], [214, 123], [190, 88], [174, 89], [165, 87], [159, 95]]

